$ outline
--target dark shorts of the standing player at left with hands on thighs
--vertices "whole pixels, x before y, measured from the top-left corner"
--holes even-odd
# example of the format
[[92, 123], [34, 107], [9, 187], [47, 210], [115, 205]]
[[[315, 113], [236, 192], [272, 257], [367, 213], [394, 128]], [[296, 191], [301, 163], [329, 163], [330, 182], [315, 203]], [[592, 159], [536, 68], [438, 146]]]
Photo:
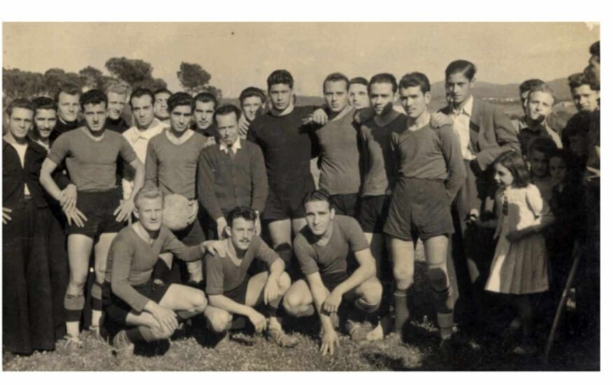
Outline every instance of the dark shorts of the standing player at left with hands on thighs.
[[106, 191], [79, 191], [76, 207], [87, 218], [83, 228], [75, 223], [66, 226], [66, 234], [82, 234], [96, 238], [105, 232], [119, 232], [124, 222], [115, 221], [113, 212], [119, 207], [122, 193], [120, 188]]

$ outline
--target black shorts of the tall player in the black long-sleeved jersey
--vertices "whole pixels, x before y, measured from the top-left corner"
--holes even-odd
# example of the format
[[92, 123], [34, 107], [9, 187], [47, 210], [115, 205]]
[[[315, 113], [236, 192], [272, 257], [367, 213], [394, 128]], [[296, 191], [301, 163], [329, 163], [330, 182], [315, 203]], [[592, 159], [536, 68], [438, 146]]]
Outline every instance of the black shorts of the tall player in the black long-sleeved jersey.
[[315, 190], [313, 176], [305, 176], [297, 181], [268, 181], [266, 209], [262, 214], [264, 221], [304, 218], [302, 200], [307, 193]]

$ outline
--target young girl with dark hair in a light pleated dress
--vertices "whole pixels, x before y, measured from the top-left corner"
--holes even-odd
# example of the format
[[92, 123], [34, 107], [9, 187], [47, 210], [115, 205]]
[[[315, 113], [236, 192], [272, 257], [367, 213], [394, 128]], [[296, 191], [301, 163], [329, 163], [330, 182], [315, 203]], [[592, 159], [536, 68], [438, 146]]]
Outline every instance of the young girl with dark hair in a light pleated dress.
[[541, 216], [547, 211], [536, 186], [530, 183], [530, 174], [521, 155], [508, 152], [494, 163], [495, 181], [500, 186], [496, 193], [498, 244], [492, 260], [486, 290], [509, 295], [518, 316], [509, 325], [509, 335], [523, 330], [523, 339], [514, 353], [536, 351], [533, 343], [533, 307], [530, 295], [549, 288], [547, 279], [547, 253], [541, 230]]

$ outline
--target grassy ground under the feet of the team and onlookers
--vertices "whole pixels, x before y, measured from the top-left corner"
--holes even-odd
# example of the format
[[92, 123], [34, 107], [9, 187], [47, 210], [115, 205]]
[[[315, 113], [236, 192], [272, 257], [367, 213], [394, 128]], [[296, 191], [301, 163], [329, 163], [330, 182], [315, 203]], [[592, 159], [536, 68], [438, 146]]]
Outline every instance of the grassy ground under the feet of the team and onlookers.
[[[247, 331], [233, 332], [226, 349], [213, 349], [211, 335], [202, 322], [195, 321], [179, 330], [164, 344], [137, 347], [135, 355], [118, 365], [111, 346], [85, 335], [85, 349], [69, 356], [58, 344], [56, 351], [37, 352], [31, 356], [3, 358], [3, 370], [182, 370], [182, 371], [363, 371], [363, 370], [598, 370], [598, 351], [579, 343], [563, 325], [565, 344], [557, 344], [549, 364], [540, 356], [513, 356], [500, 346], [500, 329], [458, 330], [458, 351], [452, 360], [439, 354], [435, 314], [429, 302], [425, 264], [416, 265], [416, 301], [410, 328], [404, 342], [383, 339], [356, 344], [341, 335], [341, 347], [333, 357], [322, 357], [319, 348], [319, 321], [316, 317], [291, 319], [285, 328], [300, 339], [294, 349], [282, 349], [261, 335]], [[544, 346], [546, 330], [540, 334]]]

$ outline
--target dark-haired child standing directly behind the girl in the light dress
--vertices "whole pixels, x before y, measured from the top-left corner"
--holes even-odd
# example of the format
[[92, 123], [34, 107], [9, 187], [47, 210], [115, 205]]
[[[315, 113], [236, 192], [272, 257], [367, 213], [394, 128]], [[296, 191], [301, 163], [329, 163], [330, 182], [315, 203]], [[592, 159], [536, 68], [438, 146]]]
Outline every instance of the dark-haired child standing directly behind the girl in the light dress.
[[556, 153], [556, 144], [549, 138], [537, 138], [532, 141], [526, 160], [530, 166], [530, 181], [540, 190], [543, 200], [551, 200], [554, 183], [549, 174], [549, 158]]

